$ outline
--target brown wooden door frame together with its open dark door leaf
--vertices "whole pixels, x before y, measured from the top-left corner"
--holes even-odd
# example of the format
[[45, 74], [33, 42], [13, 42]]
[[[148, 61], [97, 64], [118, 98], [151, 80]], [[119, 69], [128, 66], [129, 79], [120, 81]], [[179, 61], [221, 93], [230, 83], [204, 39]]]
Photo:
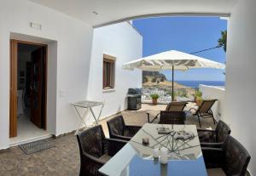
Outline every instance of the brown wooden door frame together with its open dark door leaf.
[[[31, 121], [39, 128], [46, 130], [46, 94], [47, 94], [47, 45], [41, 43], [31, 43], [26, 41], [10, 40], [10, 84], [9, 84], [9, 137], [17, 136], [17, 69], [18, 69], [18, 44], [41, 46], [32, 54], [35, 67], [39, 66], [40, 71], [34, 72], [34, 84], [31, 84], [34, 97], [31, 101], [35, 103], [32, 108]], [[34, 70], [36, 71], [36, 70]], [[43, 77], [39, 78], [37, 75]], [[38, 83], [39, 82], [39, 83]], [[30, 87], [30, 86], [29, 86]], [[39, 91], [38, 91], [39, 90]], [[41, 94], [41, 96], [40, 96]]]

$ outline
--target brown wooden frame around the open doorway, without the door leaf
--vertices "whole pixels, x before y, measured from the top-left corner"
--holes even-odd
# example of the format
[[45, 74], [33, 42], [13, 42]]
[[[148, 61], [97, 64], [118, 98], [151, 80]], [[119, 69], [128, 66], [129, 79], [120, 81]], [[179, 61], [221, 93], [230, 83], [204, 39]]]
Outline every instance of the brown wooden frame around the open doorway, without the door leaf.
[[38, 45], [44, 47], [44, 90], [43, 90], [43, 115], [44, 118], [44, 130], [47, 129], [47, 72], [48, 72], [48, 45], [44, 43], [32, 43], [27, 41], [20, 41], [15, 39], [10, 39], [10, 75], [9, 75], [9, 138], [17, 136], [17, 70], [18, 70], [18, 44], [30, 44]]

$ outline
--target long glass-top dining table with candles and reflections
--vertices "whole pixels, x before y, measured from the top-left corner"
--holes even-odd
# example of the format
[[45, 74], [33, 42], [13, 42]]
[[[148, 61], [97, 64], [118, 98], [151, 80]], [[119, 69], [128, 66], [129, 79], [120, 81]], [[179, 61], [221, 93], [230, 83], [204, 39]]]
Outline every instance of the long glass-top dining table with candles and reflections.
[[[162, 148], [167, 150], [166, 164], [154, 155], [155, 149]], [[152, 123], [144, 124], [99, 172], [109, 176], [207, 176], [195, 125]]]

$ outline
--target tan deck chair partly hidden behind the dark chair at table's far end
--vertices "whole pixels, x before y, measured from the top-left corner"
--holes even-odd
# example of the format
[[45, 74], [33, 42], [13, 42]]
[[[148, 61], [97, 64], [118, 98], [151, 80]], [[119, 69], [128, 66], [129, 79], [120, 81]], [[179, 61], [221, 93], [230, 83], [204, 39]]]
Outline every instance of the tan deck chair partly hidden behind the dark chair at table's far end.
[[[182, 102], [177, 102], [177, 101], [172, 101], [171, 103], [169, 103], [167, 106], [166, 106], [166, 111], [173, 111], [173, 112], [182, 112], [183, 109], [186, 107], [186, 105], [188, 104], [188, 102], [186, 101], [182, 101]], [[175, 114], [175, 113], [174, 113]], [[173, 114], [173, 115], [174, 115]], [[177, 113], [176, 113], [177, 114]], [[148, 115], [148, 122], [154, 122], [154, 120], [160, 116], [160, 113], [157, 114], [156, 116], [154, 116], [153, 120], [150, 121], [150, 114], [147, 113]]]

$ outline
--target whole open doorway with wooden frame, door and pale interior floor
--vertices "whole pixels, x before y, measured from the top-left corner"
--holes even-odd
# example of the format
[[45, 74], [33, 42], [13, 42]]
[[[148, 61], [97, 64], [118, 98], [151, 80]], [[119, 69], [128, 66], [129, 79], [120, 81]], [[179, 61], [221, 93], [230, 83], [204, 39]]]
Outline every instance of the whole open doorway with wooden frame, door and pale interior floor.
[[10, 138], [46, 133], [47, 45], [10, 42]]

